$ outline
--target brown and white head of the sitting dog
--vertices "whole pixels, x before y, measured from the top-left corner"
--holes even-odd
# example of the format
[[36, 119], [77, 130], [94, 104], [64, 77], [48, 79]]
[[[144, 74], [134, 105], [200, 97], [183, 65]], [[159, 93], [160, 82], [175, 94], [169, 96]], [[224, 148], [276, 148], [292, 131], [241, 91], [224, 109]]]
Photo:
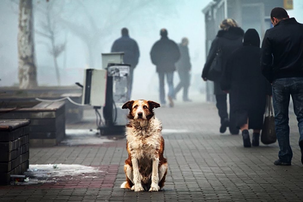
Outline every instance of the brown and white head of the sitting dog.
[[153, 109], [158, 107], [160, 107], [159, 103], [151, 100], [147, 101], [138, 99], [128, 101], [122, 106], [122, 109], [129, 109], [129, 114], [127, 117], [131, 120], [135, 120], [143, 124], [155, 115]]

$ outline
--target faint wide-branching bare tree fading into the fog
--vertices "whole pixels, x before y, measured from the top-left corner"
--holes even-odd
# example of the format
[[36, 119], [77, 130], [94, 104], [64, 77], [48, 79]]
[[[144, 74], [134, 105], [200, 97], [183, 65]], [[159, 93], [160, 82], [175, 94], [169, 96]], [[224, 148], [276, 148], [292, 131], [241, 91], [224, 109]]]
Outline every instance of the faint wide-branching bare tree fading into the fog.
[[[125, 22], [136, 18], [148, 22], [154, 21], [157, 17], [165, 18], [165, 15], [167, 15], [166, 8], [170, 8], [170, 13], [174, 12], [173, 0], [103, 0], [96, 1], [96, 7], [100, 8], [99, 12], [102, 13], [102, 18], [95, 20], [85, 2], [81, 0], [73, 1], [76, 8], [73, 13], [76, 15], [74, 17], [69, 15], [68, 19], [62, 18], [61, 21], [86, 44], [88, 65], [91, 68], [95, 67], [96, 56], [101, 54], [100, 41], [111, 35], [115, 27], [121, 27]], [[145, 12], [142, 12], [142, 10]], [[83, 16], [85, 22], [82, 21]], [[77, 18], [80, 18], [80, 20], [77, 20]]]

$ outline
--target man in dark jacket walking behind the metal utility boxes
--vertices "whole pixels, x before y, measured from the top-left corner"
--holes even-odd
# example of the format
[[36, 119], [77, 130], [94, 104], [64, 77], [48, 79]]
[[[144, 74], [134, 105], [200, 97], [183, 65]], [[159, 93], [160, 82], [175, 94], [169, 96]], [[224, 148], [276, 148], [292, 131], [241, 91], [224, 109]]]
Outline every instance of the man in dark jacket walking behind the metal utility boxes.
[[127, 77], [127, 100], [130, 100], [132, 95], [134, 69], [138, 64], [140, 53], [137, 42], [129, 37], [128, 29], [123, 28], [121, 34], [122, 37], [115, 40], [113, 43], [111, 52], [124, 52], [123, 62], [130, 65], [129, 75]]

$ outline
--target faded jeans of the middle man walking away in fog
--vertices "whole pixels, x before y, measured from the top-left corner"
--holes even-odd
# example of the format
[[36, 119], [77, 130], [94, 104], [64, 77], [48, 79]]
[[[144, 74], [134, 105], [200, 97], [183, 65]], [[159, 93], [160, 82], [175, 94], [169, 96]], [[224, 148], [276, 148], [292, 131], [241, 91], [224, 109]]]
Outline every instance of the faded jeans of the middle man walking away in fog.
[[174, 72], [158, 72], [159, 76], [159, 89], [160, 89], [160, 102], [165, 104], [165, 89], [164, 89], [164, 76], [166, 74], [166, 79], [168, 83], [168, 96], [174, 96]]

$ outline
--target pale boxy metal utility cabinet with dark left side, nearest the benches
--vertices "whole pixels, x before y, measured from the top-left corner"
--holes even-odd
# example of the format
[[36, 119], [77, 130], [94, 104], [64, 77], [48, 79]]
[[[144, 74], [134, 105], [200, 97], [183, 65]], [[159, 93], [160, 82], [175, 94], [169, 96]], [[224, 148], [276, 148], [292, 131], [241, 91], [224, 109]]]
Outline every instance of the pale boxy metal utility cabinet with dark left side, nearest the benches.
[[105, 69], [85, 69], [82, 104], [105, 106], [107, 71]]

